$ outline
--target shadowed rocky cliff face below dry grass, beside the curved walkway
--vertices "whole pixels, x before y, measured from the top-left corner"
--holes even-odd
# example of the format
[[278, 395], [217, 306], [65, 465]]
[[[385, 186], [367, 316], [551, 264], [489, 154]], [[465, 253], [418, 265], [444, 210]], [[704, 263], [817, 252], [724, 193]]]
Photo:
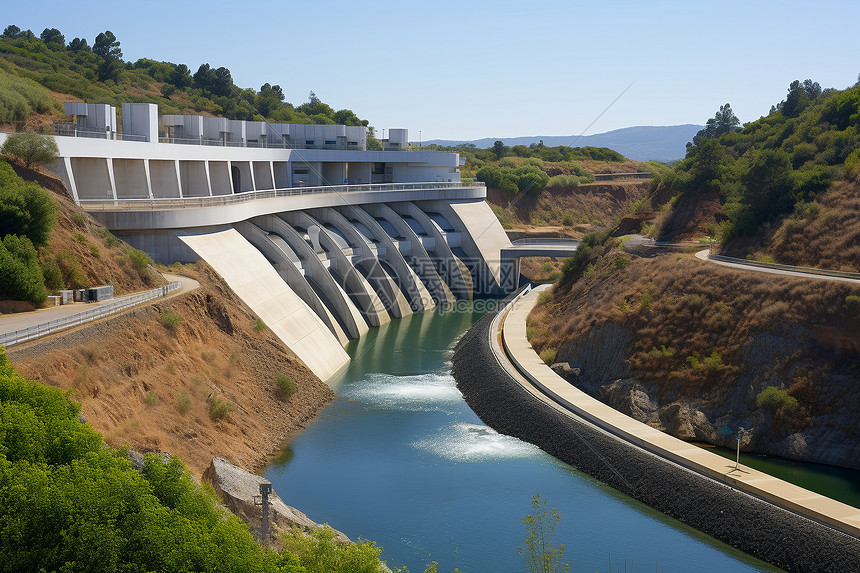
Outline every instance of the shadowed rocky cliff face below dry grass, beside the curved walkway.
[[[683, 440], [731, 446], [734, 438], [721, 435], [723, 426], [754, 428], [742, 444], [746, 451], [860, 469], [860, 387], [855, 376], [832, 368], [815, 371], [814, 357], [823, 353], [828, 362], [845, 360], [821, 347], [811, 330], [794, 327], [779, 335], [749, 336], [737, 360], [743, 374], [727, 392], [701, 396], [661, 396], [655, 384], [631, 368], [632, 339], [631, 329], [605, 323], [560, 349], [553, 368], [613, 408]], [[807, 396], [808, 416], [792, 418], [756, 404], [765, 388], [786, 388], [806, 372], [817, 375]]]

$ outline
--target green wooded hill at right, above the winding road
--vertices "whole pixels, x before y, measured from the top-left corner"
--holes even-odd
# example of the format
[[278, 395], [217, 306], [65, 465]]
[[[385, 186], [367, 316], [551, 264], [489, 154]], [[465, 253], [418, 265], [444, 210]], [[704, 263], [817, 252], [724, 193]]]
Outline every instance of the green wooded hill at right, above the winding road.
[[719, 235], [730, 254], [860, 270], [860, 84], [795, 81], [766, 117], [740, 129], [726, 105], [709, 128], [653, 182], [655, 206], [677, 196], [660, 238]]

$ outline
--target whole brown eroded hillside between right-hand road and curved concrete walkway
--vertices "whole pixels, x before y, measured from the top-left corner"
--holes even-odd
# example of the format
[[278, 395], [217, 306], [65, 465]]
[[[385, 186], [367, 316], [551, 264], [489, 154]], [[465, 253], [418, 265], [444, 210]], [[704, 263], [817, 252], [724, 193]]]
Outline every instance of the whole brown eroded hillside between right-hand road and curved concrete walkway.
[[595, 248], [529, 317], [570, 382], [679, 438], [860, 468], [860, 288]]

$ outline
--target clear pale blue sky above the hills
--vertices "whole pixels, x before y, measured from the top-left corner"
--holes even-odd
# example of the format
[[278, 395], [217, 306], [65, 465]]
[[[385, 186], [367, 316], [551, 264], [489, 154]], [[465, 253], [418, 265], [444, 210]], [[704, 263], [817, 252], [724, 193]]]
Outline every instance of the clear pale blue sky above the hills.
[[22, 2], [0, 27], [58, 28], [123, 58], [204, 62], [241, 87], [280, 84], [410, 139], [704, 123], [726, 102], [767, 114], [794, 79], [857, 81], [857, 0]]

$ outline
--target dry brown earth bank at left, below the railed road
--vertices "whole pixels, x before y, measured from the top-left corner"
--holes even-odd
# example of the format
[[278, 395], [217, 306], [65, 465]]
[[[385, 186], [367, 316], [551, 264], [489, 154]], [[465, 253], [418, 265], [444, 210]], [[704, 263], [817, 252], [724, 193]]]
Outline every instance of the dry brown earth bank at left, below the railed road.
[[[200, 478], [215, 457], [265, 468], [334, 396], [203, 263], [200, 288], [9, 349], [28, 379], [73, 390], [105, 441], [167, 451]], [[276, 380], [296, 392], [286, 401]]]

